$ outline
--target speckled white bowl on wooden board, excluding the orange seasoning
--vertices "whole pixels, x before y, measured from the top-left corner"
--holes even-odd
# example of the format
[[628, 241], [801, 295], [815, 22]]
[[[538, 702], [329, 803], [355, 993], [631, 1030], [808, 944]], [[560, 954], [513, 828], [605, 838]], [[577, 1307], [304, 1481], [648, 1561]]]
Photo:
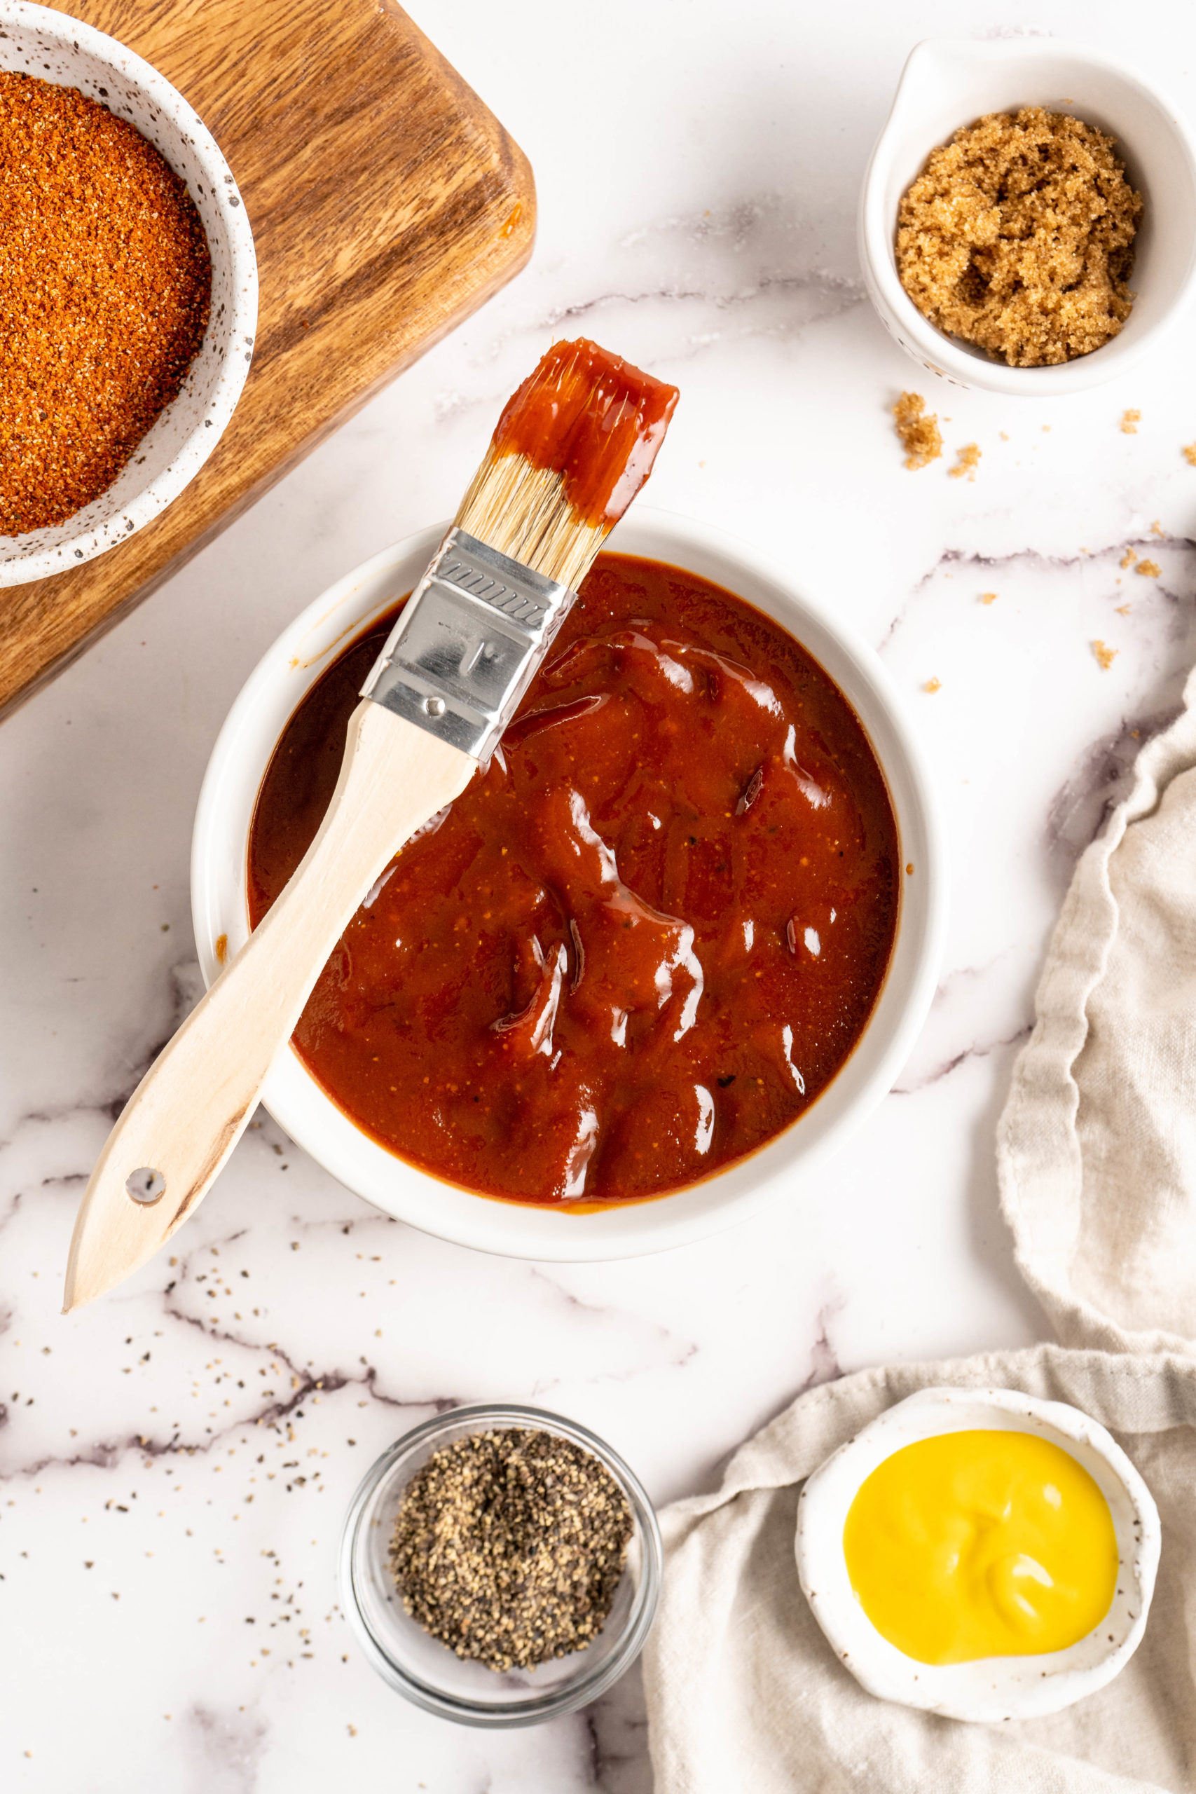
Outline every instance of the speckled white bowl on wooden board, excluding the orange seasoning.
[[0, 536], [0, 585], [23, 585], [124, 542], [195, 477], [246, 384], [258, 269], [249, 219], [215, 138], [156, 68], [102, 30], [25, 0], [0, 0], [0, 68], [79, 88], [134, 124], [186, 181], [212, 253], [212, 319], [203, 346], [120, 477], [54, 529]]

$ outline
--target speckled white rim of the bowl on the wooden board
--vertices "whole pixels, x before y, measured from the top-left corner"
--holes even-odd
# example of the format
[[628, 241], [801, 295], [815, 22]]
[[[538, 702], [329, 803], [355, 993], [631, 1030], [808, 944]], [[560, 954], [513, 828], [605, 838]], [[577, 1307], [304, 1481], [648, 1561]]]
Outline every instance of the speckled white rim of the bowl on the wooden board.
[[[244, 353], [235, 355], [233, 350], [242, 339], [253, 343], [258, 325], [258, 264], [249, 213], [233, 170], [194, 106], [143, 56], [138, 56], [136, 50], [131, 50], [118, 38], [109, 36], [109, 32], [99, 30], [95, 25], [88, 25], [70, 13], [36, 5], [34, 0], [0, 0], [0, 30], [5, 25], [22, 25], [45, 32], [47, 38], [56, 39], [66, 48], [81, 50], [108, 63], [122, 77], [134, 81], [161, 113], [190, 138], [190, 145], [210, 181], [217, 210], [228, 231], [231, 296], [228, 348], [221, 362], [222, 379], [219, 389], [213, 391], [195, 429], [183, 438], [161, 474], [142, 486], [127, 504], [120, 506], [118, 517], [126, 527], [120, 531], [111, 529], [113, 520], [109, 518], [108, 527], [91, 527], [88, 524], [79, 536], [65, 536], [61, 542], [38, 553], [22, 554], [16, 551], [7, 560], [0, 560], [0, 587], [27, 585], [32, 579], [45, 579], [50, 574], [70, 572], [72, 567], [104, 554], [145, 524], [161, 517], [167, 506], [190, 484], [228, 429], [249, 375], [249, 361], [244, 359]], [[179, 396], [172, 398], [170, 405], [176, 405]], [[163, 416], [170, 405], [165, 407]], [[91, 504], [102, 502], [104, 497], [106, 493], [100, 493]], [[75, 515], [84, 517], [91, 504], [86, 504]], [[54, 527], [65, 529], [72, 522], [74, 518], [66, 518], [66, 524]], [[129, 522], [133, 527], [127, 527]], [[36, 531], [30, 531], [30, 535], [36, 535]], [[0, 536], [0, 545], [20, 544], [20, 536]], [[63, 558], [65, 551], [70, 551], [70, 560]]]

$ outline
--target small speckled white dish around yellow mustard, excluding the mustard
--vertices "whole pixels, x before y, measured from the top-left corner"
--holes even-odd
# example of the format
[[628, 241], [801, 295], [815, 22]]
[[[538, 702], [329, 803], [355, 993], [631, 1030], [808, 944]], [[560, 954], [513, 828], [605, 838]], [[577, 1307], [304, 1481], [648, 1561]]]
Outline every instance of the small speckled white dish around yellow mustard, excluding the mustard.
[[[1117, 1593], [1101, 1624], [1067, 1650], [918, 1663], [880, 1636], [852, 1588], [843, 1527], [864, 1478], [902, 1446], [972, 1428], [1049, 1439], [1083, 1464], [1108, 1502], [1121, 1561]], [[798, 1577], [843, 1667], [882, 1701], [945, 1719], [1038, 1719], [1110, 1683], [1142, 1642], [1158, 1546], [1158, 1509], [1112, 1433], [1065, 1401], [1038, 1401], [1013, 1389], [922, 1389], [907, 1396], [839, 1446], [807, 1478], [798, 1502]]]

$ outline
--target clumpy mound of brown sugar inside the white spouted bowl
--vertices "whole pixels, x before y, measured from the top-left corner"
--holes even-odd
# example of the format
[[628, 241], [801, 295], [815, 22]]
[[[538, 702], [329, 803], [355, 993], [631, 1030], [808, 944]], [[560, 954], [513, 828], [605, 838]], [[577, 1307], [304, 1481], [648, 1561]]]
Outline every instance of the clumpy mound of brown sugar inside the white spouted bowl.
[[1115, 337], [1142, 197], [1114, 138], [1065, 113], [988, 113], [932, 151], [897, 215], [897, 269], [918, 310], [1011, 368]]

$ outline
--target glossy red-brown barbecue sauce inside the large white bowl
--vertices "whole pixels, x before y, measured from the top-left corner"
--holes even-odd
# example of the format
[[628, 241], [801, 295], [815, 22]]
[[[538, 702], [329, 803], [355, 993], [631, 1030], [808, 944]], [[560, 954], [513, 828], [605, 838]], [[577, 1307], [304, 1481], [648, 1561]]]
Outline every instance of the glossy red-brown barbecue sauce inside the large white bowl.
[[[274, 752], [255, 926], [319, 827], [387, 630]], [[837, 685], [730, 592], [602, 554], [500, 752], [357, 911], [294, 1044], [359, 1127], [454, 1184], [660, 1195], [827, 1087], [897, 908], [893, 811]]]

